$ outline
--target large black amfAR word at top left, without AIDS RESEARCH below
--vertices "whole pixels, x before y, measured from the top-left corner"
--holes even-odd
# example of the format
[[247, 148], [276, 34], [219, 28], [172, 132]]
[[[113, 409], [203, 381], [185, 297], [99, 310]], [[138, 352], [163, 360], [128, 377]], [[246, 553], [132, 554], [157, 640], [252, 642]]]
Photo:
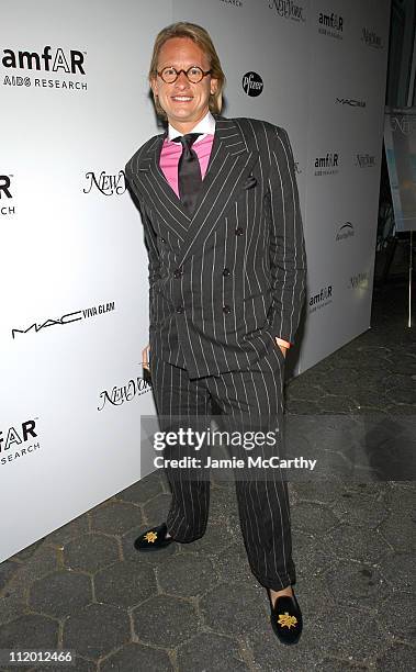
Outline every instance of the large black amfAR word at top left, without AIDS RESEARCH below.
[[21, 70], [46, 70], [46, 72], [71, 72], [85, 75], [83, 54], [76, 49], [68, 49], [65, 54], [60, 47], [50, 53], [52, 47], [45, 46], [42, 54], [37, 52], [13, 52], [3, 49], [1, 59], [4, 68], [19, 68]]

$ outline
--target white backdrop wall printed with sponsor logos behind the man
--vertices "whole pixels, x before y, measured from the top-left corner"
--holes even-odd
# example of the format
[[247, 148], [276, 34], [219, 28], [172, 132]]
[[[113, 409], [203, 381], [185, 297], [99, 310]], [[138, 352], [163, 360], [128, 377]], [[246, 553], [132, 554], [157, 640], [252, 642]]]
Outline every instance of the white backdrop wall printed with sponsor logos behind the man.
[[289, 132], [308, 255], [299, 373], [370, 325], [389, 18], [390, 0], [2, 7], [0, 561], [145, 475], [147, 254], [123, 167], [162, 132], [158, 31], [206, 27], [223, 114]]

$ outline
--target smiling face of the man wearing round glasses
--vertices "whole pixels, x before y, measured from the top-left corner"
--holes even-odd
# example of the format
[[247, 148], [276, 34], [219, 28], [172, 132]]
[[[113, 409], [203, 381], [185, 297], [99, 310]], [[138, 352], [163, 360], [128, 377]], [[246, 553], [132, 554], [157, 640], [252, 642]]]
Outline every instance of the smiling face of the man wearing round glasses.
[[[206, 71], [210, 69], [210, 61], [193, 40], [171, 37], [160, 47], [157, 69], [160, 72], [167, 66], [172, 66], [177, 71], [198, 66]], [[211, 75], [206, 75], [198, 83], [192, 83], [184, 72], [181, 72], [173, 83], [166, 83], [159, 76], [150, 83], [169, 123], [180, 133], [189, 133], [205, 116], [210, 94], [214, 93], [217, 87], [217, 80]]]

